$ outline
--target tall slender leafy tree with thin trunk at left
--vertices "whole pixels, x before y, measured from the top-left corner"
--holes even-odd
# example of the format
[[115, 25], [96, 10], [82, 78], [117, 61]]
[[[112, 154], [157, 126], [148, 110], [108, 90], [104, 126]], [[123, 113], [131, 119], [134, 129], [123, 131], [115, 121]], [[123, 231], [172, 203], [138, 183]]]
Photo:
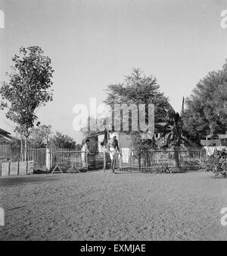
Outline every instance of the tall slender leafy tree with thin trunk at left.
[[22, 138], [25, 137], [25, 158], [30, 129], [37, 121], [36, 110], [52, 100], [51, 77], [54, 70], [51, 59], [42, 54], [39, 46], [20, 47], [20, 55], [12, 58], [8, 82], [3, 82], [0, 88], [2, 109], [7, 109], [6, 117], [16, 123], [15, 130], [20, 132], [22, 146]]

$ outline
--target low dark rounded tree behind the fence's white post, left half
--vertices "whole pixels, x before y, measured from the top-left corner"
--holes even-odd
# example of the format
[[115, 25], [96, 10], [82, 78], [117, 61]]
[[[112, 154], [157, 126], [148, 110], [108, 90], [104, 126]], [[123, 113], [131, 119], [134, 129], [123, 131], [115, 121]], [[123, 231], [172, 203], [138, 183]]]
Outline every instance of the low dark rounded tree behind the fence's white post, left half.
[[50, 138], [49, 144], [51, 147], [58, 148], [75, 148], [76, 141], [72, 137], [61, 134], [61, 132], [56, 131], [53, 137]]

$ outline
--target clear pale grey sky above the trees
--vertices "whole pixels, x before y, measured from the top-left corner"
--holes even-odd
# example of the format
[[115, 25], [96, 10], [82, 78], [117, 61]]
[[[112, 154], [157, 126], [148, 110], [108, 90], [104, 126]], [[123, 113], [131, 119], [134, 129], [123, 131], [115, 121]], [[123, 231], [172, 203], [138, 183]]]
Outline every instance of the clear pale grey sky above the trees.
[[[54, 101], [39, 120], [80, 143], [73, 106], [102, 103], [107, 85], [132, 68], [157, 77], [180, 111], [182, 97], [227, 58], [226, 9], [225, 0], [0, 0], [0, 81], [20, 46], [41, 46], [52, 60]], [[0, 128], [14, 130], [3, 111]]]

